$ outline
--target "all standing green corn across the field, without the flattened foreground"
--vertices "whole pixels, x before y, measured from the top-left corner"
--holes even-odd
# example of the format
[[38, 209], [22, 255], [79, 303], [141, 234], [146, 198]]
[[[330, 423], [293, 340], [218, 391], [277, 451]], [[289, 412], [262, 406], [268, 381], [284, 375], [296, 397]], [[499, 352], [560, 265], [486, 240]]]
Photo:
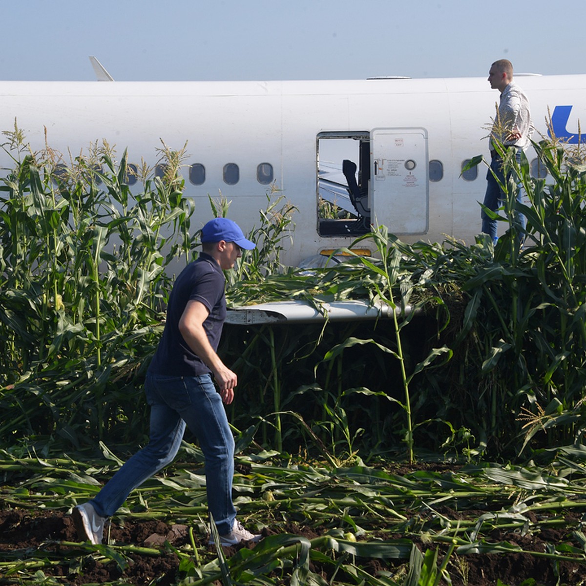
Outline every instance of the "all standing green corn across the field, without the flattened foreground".
[[[8, 133], [15, 170], [0, 186], [0, 441], [82, 448], [146, 432], [141, 385], [161, 332], [172, 273], [192, 259], [193, 203], [183, 152], [163, 144], [130, 192], [125, 154], [94, 145], [64, 168]], [[292, 207], [273, 187], [235, 271], [232, 305], [368, 299], [388, 318], [311, 325], [226, 325], [220, 353], [239, 374], [231, 421], [266, 448], [330, 462], [427, 452], [475, 461], [580, 451], [586, 374], [586, 177], [581, 153], [535, 145], [550, 180], [503, 151], [510, 180], [496, 247], [402, 243], [312, 271], [281, 266]], [[479, 158], [473, 159], [478, 164]], [[522, 183], [529, 205], [516, 203]], [[210, 199], [215, 215], [230, 202]], [[529, 220], [519, 234], [514, 220]], [[389, 311], [387, 311], [389, 310]], [[365, 425], [364, 421], [369, 425]], [[40, 445], [40, 444], [39, 444]], [[420, 457], [421, 457], [420, 456]], [[400, 456], [403, 457], [403, 456]]]

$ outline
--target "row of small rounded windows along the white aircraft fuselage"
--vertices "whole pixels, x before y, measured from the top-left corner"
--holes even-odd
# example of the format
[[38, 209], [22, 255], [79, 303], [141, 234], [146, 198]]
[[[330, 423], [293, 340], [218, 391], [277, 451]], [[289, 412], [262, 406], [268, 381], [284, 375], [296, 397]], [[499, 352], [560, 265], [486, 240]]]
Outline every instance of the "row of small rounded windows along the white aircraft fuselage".
[[[470, 159], [462, 161], [461, 169], [468, 165]], [[56, 175], [59, 175], [60, 165], [57, 165]], [[63, 170], [65, 166], [63, 165]], [[130, 172], [128, 173], [128, 185], [134, 185], [138, 180], [138, 167], [134, 163], [128, 165]], [[531, 176], [534, 179], [544, 179], [547, 176], [547, 169], [539, 161], [533, 159], [530, 163]], [[100, 168], [96, 169], [101, 171]], [[166, 165], [155, 166], [155, 177], [163, 177], [165, 175]], [[429, 163], [430, 181], [436, 183], [444, 178], [444, 163], [434, 159]], [[260, 163], [257, 165], [257, 181], [261, 185], [270, 185], [274, 179], [274, 171], [271, 163]], [[462, 173], [462, 179], [465, 181], [473, 181], [478, 177], [478, 166], [472, 167]], [[222, 169], [222, 178], [227, 185], [236, 185], [240, 180], [240, 168], [236, 163], [226, 163]], [[203, 185], [206, 182], [206, 168], [202, 163], [193, 163], [189, 166], [189, 182], [192, 185]], [[98, 179], [98, 183], [100, 180]]]

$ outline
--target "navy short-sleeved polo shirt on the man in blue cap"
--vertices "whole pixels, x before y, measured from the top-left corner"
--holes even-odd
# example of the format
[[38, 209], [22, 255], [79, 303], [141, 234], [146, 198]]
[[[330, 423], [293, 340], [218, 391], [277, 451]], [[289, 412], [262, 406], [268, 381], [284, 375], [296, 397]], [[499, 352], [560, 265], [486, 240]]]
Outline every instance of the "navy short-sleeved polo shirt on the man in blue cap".
[[210, 312], [203, 328], [210, 345], [217, 351], [226, 319], [225, 284], [222, 268], [209, 254], [200, 253], [196, 261], [180, 272], [169, 296], [165, 329], [148, 372], [168, 376], [197, 376], [211, 372], [183, 339], [179, 319], [188, 301], [203, 303]]

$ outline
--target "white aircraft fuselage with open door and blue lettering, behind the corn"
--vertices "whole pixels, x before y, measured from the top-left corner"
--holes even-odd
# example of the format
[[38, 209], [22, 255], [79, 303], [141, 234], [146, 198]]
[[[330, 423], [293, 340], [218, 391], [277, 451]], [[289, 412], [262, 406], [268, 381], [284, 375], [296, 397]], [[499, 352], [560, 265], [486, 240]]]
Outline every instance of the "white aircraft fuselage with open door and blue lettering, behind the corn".
[[[548, 111], [554, 113], [556, 107], [573, 107], [564, 132], [578, 132], [578, 120], [586, 119], [586, 75], [515, 81], [530, 100], [534, 140], [547, 135]], [[219, 192], [231, 201], [228, 215], [244, 231], [258, 226], [258, 210], [266, 206], [270, 187], [259, 182], [258, 171], [271, 169], [264, 179], [274, 180], [298, 209], [294, 241], [284, 258], [295, 264], [347, 246], [355, 237], [325, 229], [318, 219], [318, 171], [327, 163], [341, 168], [341, 160], [323, 160], [325, 152], [336, 152], [329, 148], [335, 143], [340, 152], [345, 144], [355, 145], [345, 158], [360, 156], [359, 143], [369, 155], [363, 158], [362, 174], [369, 180], [362, 188], [370, 222], [389, 226], [404, 241], [438, 241], [445, 234], [471, 243], [480, 231], [478, 202], [485, 192], [486, 167], [469, 180], [461, 177], [461, 168], [475, 155], [488, 156], [485, 137], [498, 99], [498, 91], [484, 78], [3, 81], [0, 130], [12, 130], [16, 118], [36, 150], [45, 147], [46, 127], [47, 143], [66, 155], [66, 162], [68, 149], [76, 156], [104, 138], [116, 145], [119, 156], [127, 148], [129, 162], [139, 164], [144, 158], [154, 166], [161, 139], [172, 149], [187, 141], [185, 195], [195, 200], [196, 227], [210, 219], [208, 194], [217, 197]], [[527, 156], [535, 158], [533, 149]], [[190, 179], [191, 165], [205, 170], [200, 185]], [[0, 166], [11, 166], [7, 156]], [[195, 182], [202, 178], [199, 173]]]

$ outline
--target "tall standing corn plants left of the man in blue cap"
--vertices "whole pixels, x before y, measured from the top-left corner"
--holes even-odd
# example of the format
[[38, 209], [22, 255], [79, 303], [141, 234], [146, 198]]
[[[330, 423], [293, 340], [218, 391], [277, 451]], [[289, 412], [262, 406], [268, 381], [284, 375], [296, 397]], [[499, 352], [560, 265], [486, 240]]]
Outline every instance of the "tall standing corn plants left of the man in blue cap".
[[11, 417], [0, 424], [3, 440], [56, 433], [79, 447], [89, 431], [124, 441], [144, 418], [132, 398], [158, 342], [165, 267], [193, 244], [180, 155], [163, 151], [167, 175], [145, 175], [134, 196], [126, 153], [115, 165], [105, 143], [69, 168], [52, 151], [27, 154], [4, 178], [0, 406]]

